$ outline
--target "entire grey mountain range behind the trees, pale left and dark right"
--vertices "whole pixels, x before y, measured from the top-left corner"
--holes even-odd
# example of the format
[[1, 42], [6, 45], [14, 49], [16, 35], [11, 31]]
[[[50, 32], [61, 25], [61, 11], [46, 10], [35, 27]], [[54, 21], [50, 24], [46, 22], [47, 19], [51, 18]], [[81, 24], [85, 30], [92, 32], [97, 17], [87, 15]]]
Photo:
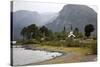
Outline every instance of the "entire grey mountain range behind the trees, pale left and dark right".
[[64, 26], [66, 31], [70, 30], [70, 25], [73, 28], [78, 28], [81, 32], [87, 24], [93, 24], [96, 34], [97, 28], [97, 13], [90, 7], [85, 5], [69, 4], [65, 5], [59, 13], [43, 13], [20, 10], [12, 12], [13, 14], [13, 40], [21, 39], [20, 32], [23, 27], [31, 24], [37, 26], [45, 25], [52, 31], [62, 31]]

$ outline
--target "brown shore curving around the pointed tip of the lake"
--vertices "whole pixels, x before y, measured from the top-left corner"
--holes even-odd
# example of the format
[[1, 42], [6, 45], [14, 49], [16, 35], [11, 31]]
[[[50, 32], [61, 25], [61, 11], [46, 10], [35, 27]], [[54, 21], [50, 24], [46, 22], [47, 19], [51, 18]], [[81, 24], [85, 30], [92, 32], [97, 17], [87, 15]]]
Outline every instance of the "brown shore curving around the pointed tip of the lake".
[[[93, 61], [97, 61], [97, 60], [94, 60], [94, 59], [97, 59], [97, 55], [81, 55], [81, 54], [79, 54], [77, 52], [73, 52], [73, 51], [65, 51], [64, 52], [63, 48], [62, 49], [61, 48], [58, 49], [58, 47], [55, 48], [55, 50], [53, 50], [53, 49], [50, 49], [50, 48], [48, 49], [47, 47], [44, 47], [44, 46], [37, 46], [37, 47], [31, 47], [30, 50], [60, 52], [60, 53], [62, 53], [62, 55], [54, 57], [52, 59], [44, 60], [44, 61], [41, 61], [41, 62], [30, 63], [30, 64], [21, 65], [21, 66], [44, 65], [44, 64], [61, 64], [61, 63], [78, 63], [78, 62], [93, 62]], [[88, 57], [88, 58], [86, 58], [86, 57]], [[17, 65], [17, 66], [20, 66], [20, 65]]]

